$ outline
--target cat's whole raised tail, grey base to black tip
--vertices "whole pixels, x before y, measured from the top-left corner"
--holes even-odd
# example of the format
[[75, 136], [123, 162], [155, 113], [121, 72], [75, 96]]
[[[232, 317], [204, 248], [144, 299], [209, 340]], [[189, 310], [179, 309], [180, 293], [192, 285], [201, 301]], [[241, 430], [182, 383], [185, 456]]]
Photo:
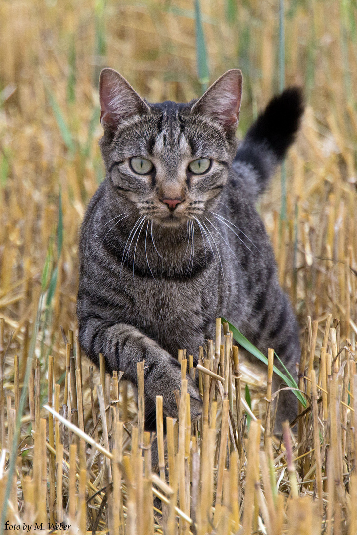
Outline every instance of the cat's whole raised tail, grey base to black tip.
[[[304, 112], [302, 90], [289, 87], [271, 99], [238, 147], [233, 168], [262, 193], [294, 141]], [[247, 172], [244, 172], [244, 171]], [[253, 173], [252, 173], [253, 171]]]

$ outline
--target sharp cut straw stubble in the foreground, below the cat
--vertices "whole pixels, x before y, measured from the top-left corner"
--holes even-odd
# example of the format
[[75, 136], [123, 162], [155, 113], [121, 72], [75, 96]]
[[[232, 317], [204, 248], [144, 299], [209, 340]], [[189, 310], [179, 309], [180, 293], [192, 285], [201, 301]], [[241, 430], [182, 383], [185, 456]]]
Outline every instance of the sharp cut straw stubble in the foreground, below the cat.
[[[138, 364], [138, 420], [133, 418], [126, 424], [121, 421], [124, 411], [123, 400], [119, 398], [118, 375], [114, 373], [111, 379], [108, 376], [108, 381], [102, 374], [98, 376], [101, 384], [96, 386], [96, 417], [89, 418], [87, 415], [85, 418], [89, 422], [87, 433], [81, 429], [84, 418], [79, 417], [80, 425], [77, 425], [58, 412], [60, 399], [65, 400], [67, 387], [67, 408], [62, 406], [62, 413], [70, 414], [68, 405], [70, 397], [74, 397], [70, 375], [69, 382], [66, 384], [64, 381], [62, 389], [56, 385], [56, 409], [51, 407], [54, 360], [49, 358], [48, 403], [41, 411], [45, 411], [44, 416], [48, 415], [50, 426], [47, 426], [46, 419], [40, 417], [39, 426], [31, 437], [24, 434], [19, 438], [20, 449], [28, 444], [25, 450], [31, 452], [29, 458], [32, 463], [28, 463], [27, 458], [24, 460], [18, 449], [18, 471], [6, 518], [11, 522], [21, 519], [21, 522], [32, 523], [33, 526], [41, 522], [43, 525], [57, 523], [55, 530], [58, 533], [72, 533], [73, 529], [80, 533], [88, 530], [103, 532], [109, 528], [111, 533], [123, 535], [163, 532], [203, 535], [212, 529], [227, 535], [239, 530], [245, 535], [257, 532], [320, 535], [323, 530], [352, 535], [356, 524], [355, 412], [351, 404], [342, 406], [341, 402], [342, 398], [349, 401], [345, 391], [350, 399], [357, 399], [357, 374], [351, 352], [340, 351], [333, 331], [330, 330], [331, 337], [322, 340], [327, 347], [332, 346], [336, 357], [340, 355], [339, 366], [335, 358], [331, 373], [326, 377], [328, 419], [327, 422], [324, 420], [324, 407], [322, 398], [318, 398], [313, 365], [310, 381], [305, 383], [306, 396], [307, 385], [310, 385], [311, 403], [300, 416], [302, 442], [291, 434], [288, 423], [283, 424], [283, 441], [274, 437], [269, 425], [271, 350], [264, 435], [261, 435], [260, 421], [254, 419], [246, 435], [238, 432], [238, 429], [242, 430], [239, 424], [241, 404], [234, 403], [232, 412], [226, 393], [229, 390], [227, 377], [230, 377], [227, 367], [232, 372], [234, 394], [238, 393], [236, 381], [240, 380], [237, 374], [238, 351], [234, 346], [231, 349], [229, 335], [225, 336], [224, 365], [222, 368], [218, 366], [222, 375], [209, 370], [210, 358], [204, 359], [204, 366], [196, 367], [196, 373], [204, 375], [203, 400], [207, 403], [206, 408], [203, 406], [202, 418], [196, 423], [191, 423], [189, 413], [185, 378], [187, 360], [181, 360], [183, 379], [178, 395], [179, 417], [177, 422], [166, 418], [166, 437], [160, 396], [156, 401], [156, 438], [154, 435], [150, 438], [150, 434], [143, 430], [144, 362]], [[333, 347], [335, 343], [336, 347]], [[316, 342], [312, 337], [311, 346], [313, 344], [316, 345]], [[209, 354], [209, 344], [207, 350]], [[321, 353], [324, 354], [324, 351]], [[221, 355], [216, 358], [221, 362]], [[348, 381], [344, 370], [348, 370]], [[76, 371], [76, 380], [80, 383], [80, 368]], [[30, 389], [34, 387], [35, 383]], [[212, 397], [211, 389], [214, 390]], [[77, 391], [77, 402], [82, 397], [78, 394]], [[38, 397], [35, 392], [29, 392], [29, 398], [32, 396], [34, 399]], [[80, 407], [81, 402], [78, 405]], [[92, 406], [90, 402], [89, 414]], [[9, 396], [6, 414], [5, 440], [6, 447], [11, 449], [14, 440], [11, 422], [15, 421], [16, 408], [12, 407]], [[94, 421], [99, 427], [100, 440], [91, 436], [94, 434]], [[343, 427], [341, 421], [344, 422]], [[151, 462], [153, 440], [157, 440], [157, 473]], [[69, 445], [67, 448], [64, 442]], [[6, 482], [6, 469], [1, 475]], [[72, 528], [66, 527], [69, 524]]]

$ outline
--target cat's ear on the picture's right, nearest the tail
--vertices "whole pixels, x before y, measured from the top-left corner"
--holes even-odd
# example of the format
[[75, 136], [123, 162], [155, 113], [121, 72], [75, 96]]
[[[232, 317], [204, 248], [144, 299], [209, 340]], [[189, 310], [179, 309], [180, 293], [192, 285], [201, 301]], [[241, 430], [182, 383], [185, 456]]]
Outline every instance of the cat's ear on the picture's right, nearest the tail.
[[225, 128], [237, 128], [242, 98], [242, 80], [242, 73], [238, 68], [225, 72], [195, 102], [191, 113], [212, 117]]

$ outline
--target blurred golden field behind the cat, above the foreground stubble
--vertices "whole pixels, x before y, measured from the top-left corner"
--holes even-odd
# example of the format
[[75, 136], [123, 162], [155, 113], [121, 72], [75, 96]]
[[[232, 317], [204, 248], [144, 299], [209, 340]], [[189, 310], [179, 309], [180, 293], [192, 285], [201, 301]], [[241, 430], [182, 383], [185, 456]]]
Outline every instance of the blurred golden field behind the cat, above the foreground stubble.
[[331, 312], [354, 347], [356, 7], [355, 0], [2, 0], [0, 316], [9, 354], [28, 350], [41, 293], [43, 363], [50, 352], [65, 355], [60, 326], [76, 328], [79, 228], [104, 178], [97, 144], [104, 66], [149, 101], [189, 101], [239, 67], [240, 138], [284, 85], [303, 87], [301, 132], [259, 210], [301, 326], [308, 315], [324, 322]]

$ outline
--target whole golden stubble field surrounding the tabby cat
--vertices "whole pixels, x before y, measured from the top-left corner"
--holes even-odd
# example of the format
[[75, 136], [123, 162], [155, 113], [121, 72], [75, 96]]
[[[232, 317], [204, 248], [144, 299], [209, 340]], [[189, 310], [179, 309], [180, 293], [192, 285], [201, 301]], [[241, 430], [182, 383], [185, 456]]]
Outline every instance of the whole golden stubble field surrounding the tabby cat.
[[[280, 4], [0, 2], [0, 533], [6, 520], [32, 533], [56, 520], [71, 524], [57, 533], [357, 533], [357, 5]], [[78, 233], [104, 178], [98, 74], [115, 68], [152, 102], [188, 101], [239, 67], [241, 138], [281, 87], [282, 59], [307, 107], [259, 209], [301, 325], [306, 414], [298, 435], [271, 440], [267, 378], [226, 338], [222, 380], [196, 370], [206, 400], [196, 429], [183, 381], [156, 475], [142, 388], [138, 416], [131, 388], [103, 368], [92, 376], [76, 347]], [[209, 346], [202, 357], [212, 369]], [[235, 395], [245, 384], [261, 423], [253, 415], [249, 432]]]

